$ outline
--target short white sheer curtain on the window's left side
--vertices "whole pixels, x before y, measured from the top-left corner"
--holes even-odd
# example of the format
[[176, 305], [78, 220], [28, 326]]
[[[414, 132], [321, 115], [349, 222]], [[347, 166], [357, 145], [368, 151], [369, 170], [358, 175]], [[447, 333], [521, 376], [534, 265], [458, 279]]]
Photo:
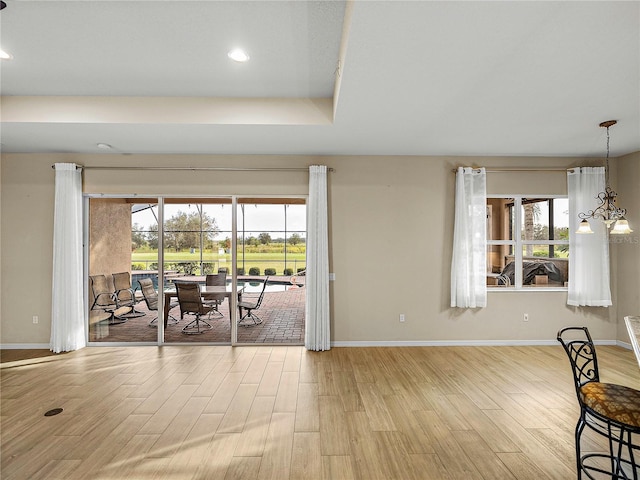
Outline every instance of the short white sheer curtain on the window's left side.
[[487, 306], [487, 174], [459, 167], [451, 260], [451, 306]]

